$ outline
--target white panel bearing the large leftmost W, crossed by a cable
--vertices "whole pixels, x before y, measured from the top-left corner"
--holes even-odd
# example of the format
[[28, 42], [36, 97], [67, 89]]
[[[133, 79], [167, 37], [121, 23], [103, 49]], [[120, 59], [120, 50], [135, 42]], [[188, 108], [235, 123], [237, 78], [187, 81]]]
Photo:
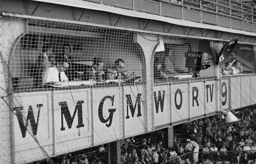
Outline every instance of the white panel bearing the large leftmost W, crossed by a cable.
[[[45, 158], [40, 146], [52, 155], [51, 92], [14, 94], [15, 162]], [[37, 144], [34, 137], [38, 140]]]

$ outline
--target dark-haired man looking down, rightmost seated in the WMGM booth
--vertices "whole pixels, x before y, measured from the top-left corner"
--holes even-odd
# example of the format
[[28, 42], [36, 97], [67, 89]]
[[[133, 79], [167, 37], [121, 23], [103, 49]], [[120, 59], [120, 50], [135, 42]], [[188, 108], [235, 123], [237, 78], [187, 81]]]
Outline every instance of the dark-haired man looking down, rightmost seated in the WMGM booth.
[[108, 69], [108, 80], [116, 80], [116, 79], [119, 79], [119, 80], [123, 80], [123, 81], [126, 81], [126, 80], [129, 80], [131, 79], [132, 77], [136, 76], [135, 73], [133, 73], [131, 76], [127, 77], [127, 75], [124, 74], [124, 61], [122, 59], [117, 59], [115, 61], [115, 66], [111, 69]]

